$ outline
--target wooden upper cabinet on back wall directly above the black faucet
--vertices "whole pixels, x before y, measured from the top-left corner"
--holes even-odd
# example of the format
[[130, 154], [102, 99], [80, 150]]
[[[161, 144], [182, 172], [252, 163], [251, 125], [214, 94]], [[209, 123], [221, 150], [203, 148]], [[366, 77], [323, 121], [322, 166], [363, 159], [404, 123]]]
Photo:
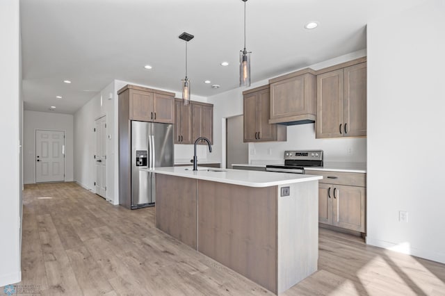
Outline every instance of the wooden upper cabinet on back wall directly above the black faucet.
[[[213, 144], [213, 104], [192, 101], [192, 142], [200, 137], [205, 137]], [[206, 144], [201, 140], [199, 144]]]

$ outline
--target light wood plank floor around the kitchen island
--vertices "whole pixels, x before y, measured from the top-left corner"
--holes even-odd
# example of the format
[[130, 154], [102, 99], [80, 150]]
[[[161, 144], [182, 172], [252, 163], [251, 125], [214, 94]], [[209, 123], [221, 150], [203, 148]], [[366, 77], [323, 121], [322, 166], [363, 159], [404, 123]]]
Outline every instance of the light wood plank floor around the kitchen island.
[[[26, 186], [22, 245], [19, 285], [37, 295], [273, 295], [154, 228], [154, 208], [76, 183]], [[319, 248], [318, 272], [284, 295], [445, 295], [443, 264], [326, 229]]]

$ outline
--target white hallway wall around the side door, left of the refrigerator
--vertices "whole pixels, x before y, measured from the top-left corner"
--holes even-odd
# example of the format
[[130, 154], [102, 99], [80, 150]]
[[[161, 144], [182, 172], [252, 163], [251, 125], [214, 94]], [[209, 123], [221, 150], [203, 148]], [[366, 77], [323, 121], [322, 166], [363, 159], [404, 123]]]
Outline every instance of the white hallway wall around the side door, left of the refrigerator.
[[95, 191], [95, 120], [106, 116], [106, 200], [119, 204], [115, 195], [115, 83], [106, 86], [74, 113], [74, 181]]

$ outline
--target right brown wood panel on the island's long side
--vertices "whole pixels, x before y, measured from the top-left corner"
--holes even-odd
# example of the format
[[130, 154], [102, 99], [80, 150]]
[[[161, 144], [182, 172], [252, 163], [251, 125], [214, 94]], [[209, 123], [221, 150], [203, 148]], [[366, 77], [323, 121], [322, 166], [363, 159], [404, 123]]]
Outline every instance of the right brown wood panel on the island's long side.
[[277, 186], [198, 183], [198, 250], [277, 291]]

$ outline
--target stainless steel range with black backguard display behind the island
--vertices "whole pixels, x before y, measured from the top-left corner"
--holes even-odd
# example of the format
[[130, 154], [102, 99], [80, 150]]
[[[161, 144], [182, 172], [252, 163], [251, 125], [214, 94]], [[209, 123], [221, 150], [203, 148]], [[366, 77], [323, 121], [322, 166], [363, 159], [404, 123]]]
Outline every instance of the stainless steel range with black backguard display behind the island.
[[323, 150], [284, 151], [284, 165], [266, 165], [266, 171], [305, 174], [305, 167], [323, 167]]

